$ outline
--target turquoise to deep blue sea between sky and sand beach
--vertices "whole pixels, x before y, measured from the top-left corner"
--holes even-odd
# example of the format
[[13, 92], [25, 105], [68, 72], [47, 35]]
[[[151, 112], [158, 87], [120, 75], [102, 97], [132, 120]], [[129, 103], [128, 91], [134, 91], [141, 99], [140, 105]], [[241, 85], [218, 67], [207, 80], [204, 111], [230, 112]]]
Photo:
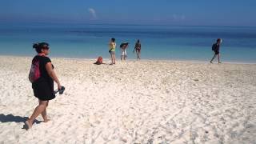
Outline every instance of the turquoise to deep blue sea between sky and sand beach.
[[[223, 62], [256, 62], [256, 27], [142, 26], [0, 23], [0, 54], [33, 56], [34, 42], [49, 42], [50, 57], [109, 58], [108, 42], [130, 42], [128, 59], [137, 39], [143, 59], [209, 61], [211, 45], [222, 38]], [[120, 50], [117, 47], [116, 56]]]

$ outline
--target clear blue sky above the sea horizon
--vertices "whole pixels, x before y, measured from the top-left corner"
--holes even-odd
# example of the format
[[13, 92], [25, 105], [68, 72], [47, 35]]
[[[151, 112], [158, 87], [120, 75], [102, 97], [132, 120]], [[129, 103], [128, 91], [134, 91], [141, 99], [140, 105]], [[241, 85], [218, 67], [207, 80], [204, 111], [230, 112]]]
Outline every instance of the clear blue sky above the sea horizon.
[[0, 22], [256, 26], [256, 0], [1, 0]]

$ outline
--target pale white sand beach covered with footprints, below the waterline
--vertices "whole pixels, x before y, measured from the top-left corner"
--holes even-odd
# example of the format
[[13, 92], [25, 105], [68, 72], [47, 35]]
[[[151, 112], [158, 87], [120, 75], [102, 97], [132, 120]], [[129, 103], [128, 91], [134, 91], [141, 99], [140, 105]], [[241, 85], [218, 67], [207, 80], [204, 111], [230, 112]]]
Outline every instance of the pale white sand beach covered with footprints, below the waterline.
[[0, 56], [0, 143], [256, 142], [256, 64], [51, 58], [66, 91], [25, 130], [31, 59]]

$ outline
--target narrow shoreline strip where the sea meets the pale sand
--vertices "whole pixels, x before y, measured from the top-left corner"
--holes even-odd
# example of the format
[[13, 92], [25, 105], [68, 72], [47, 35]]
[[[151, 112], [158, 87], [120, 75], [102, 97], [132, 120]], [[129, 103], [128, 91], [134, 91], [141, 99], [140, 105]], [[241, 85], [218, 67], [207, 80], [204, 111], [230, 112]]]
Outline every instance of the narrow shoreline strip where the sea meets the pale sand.
[[[1, 55], [0, 57], [9, 57], [9, 58], [33, 58], [34, 56], [20, 56], [20, 55]], [[97, 58], [66, 58], [66, 57], [50, 57], [54, 59], [66, 59], [66, 60], [85, 60], [85, 61], [95, 61]], [[110, 58], [103, 58], [103, 62], [110, 61]], [[121, 62], [119, 58], [116, 59], [117, 62]], [[216, 60], [215, 60], [216, 61]], [[126, 62], [138, 62], [137, 59], [127, 59]], [[142, 59], [139, 62], [186, 62], [186, 63], [202, 63], [207, 64], [210, 63], [210, 61], [200, 61], [200, 60], [182, 60], [182, 59]], [[218, 62], [214, 62], [213, 64], [218, 64]], [[256, 65], [256, 62], [230, 62], [230, 61], [224, 61], [221, 64], [237, 64], [237, 65]]]

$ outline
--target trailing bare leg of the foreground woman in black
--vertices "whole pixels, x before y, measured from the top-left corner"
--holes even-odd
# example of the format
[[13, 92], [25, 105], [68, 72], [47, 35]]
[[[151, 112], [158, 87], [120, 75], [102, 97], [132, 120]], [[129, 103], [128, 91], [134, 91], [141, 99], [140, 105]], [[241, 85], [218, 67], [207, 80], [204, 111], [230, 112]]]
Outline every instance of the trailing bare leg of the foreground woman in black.
[[39, 100], [39, 105], [34, 109], [33, 114], [31, 117], [26, 120], [26, 125], [28, 125], [29, 129], [32, 127], [34, 119], [38, 117], [39, 114], [42, 114], [44, 110], [46, 110], [46, 105], [48, 101], [40, 101]]

